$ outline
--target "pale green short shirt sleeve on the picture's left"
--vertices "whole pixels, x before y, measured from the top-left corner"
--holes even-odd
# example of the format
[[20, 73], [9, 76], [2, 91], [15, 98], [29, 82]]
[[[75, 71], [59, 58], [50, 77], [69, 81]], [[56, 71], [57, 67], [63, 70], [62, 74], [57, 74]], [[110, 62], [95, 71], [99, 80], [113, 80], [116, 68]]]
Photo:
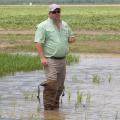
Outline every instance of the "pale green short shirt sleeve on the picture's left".
[[45, 42], [45, 29], [42, 25], [37, 26], [37, 30], [35, 32], [34, 42], [38, 42], [38, 43], [44, 43]]

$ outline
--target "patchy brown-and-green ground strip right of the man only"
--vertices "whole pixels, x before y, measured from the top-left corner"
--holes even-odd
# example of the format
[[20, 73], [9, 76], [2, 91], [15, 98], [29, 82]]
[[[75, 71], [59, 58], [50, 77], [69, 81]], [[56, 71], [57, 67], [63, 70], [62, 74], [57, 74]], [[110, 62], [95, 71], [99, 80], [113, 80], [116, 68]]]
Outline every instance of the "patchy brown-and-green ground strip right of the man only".
[[84, 53], [120, 53], [120, 35], [77, 35], [77, 41], [71, 45], [72, 52]]

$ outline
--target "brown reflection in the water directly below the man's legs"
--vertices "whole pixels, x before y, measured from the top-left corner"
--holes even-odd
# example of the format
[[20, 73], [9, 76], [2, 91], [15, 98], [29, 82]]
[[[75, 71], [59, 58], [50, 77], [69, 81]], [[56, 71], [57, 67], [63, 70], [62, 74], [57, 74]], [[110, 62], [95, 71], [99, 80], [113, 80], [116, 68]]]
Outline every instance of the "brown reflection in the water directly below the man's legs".
[[59, 111], [45, 111], [44, 120], [65, 120], [65, 116]]

